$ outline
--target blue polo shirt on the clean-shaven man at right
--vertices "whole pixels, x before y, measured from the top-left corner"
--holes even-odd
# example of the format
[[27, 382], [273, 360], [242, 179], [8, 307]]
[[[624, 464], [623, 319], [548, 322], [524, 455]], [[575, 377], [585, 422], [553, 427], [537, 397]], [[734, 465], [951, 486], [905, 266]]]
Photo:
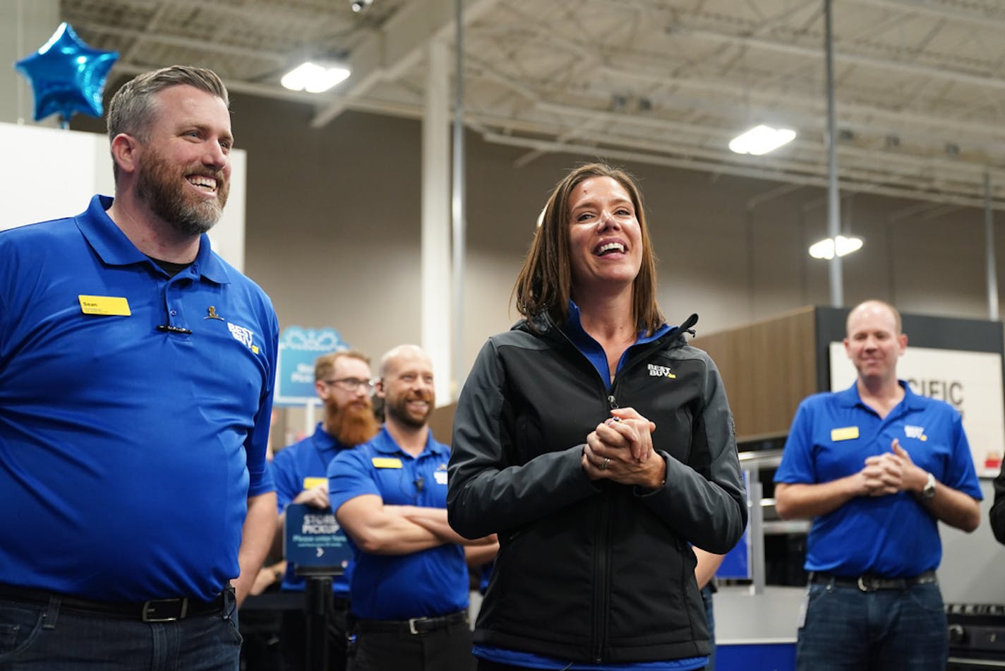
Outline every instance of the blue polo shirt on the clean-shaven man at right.
[[[899, 384], [903, 400], [884, 418], [862, 402], [856, 384], [803, 400], [775, 482], [819, 484], [852, 475], [867, 457], [889, 452], [895, 438], [939, 482], [982, 499], [960, 413]], [[941, 560], [937, 520], [910, 492], [855, 497], [815, 517], [806, 541], [806, 570], [837, 575], [910, 577]]]

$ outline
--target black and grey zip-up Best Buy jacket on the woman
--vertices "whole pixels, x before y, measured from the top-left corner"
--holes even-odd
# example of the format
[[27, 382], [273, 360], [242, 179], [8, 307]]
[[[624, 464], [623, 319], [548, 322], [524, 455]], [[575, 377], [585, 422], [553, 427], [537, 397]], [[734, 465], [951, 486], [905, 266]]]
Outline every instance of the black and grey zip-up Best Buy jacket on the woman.
[[[609, 389], [547, 317], [482, 347], [454, 416], [447, 492], [458, 533], [499, 538], [476, 645], [592, 663], [709, 654], [690, 544], [729, 551], [747, 500], [722, 378], [685, 342], [696, 319], [629, 348]], [[616, 406], [655, 423], [662, 487], [583, 471], [587, 435]]]

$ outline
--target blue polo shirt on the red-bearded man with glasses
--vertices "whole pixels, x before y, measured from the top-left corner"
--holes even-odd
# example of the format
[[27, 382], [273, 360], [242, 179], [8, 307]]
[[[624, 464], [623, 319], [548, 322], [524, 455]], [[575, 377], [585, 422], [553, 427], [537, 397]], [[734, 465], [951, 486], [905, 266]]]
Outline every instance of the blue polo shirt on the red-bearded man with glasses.
[[[283, 513], [296, 495], [305, 489], [309, 479], [320, 479], [328, 482], [328, 465], [335, 456], [343, 450], [351, 450], [339, 442], [337, 438], [318, 428], [312, 436], [293, 443], [276, 453], [270, 469], [275, 478], [275, 500], [279, 513]], [[346, 572], [332, 577], [332, 592], [337, 597], [349, 597], [349, 577], [352, 574], [352, 562], [346, 566]], [[282, 577], [282, 589], [290, 592], [304, 592], [307, 580], [297, 575], [292, 563], [286, 564], [286, 574]]]

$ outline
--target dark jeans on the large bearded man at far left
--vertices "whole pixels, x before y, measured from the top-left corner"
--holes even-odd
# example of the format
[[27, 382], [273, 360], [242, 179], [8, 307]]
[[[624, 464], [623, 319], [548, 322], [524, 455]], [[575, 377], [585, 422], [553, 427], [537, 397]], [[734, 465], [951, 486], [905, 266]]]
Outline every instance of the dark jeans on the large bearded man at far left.
[[237, 671], [241, 635], [222, 614], [146, 623], [48, 604], [0, 600], [0, 671]]

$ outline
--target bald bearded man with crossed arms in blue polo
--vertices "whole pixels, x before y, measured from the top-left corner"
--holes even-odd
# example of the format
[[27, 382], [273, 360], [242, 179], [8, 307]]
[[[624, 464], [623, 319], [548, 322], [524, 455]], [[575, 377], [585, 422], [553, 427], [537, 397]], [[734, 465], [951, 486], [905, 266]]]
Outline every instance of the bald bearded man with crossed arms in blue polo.
[[[377, 395], [384, 429], [328, 469], [332, 509], [356, 548], [350, 580], [355, 671], [467, 671], [467, 560], [483, 563], [494, 536], [467, 540], [446, 521], [450, 449], [433, 440], [433, 370], [425, 352], [384, 355]], [[477, 556], [474, 556], [477, 555]]]

